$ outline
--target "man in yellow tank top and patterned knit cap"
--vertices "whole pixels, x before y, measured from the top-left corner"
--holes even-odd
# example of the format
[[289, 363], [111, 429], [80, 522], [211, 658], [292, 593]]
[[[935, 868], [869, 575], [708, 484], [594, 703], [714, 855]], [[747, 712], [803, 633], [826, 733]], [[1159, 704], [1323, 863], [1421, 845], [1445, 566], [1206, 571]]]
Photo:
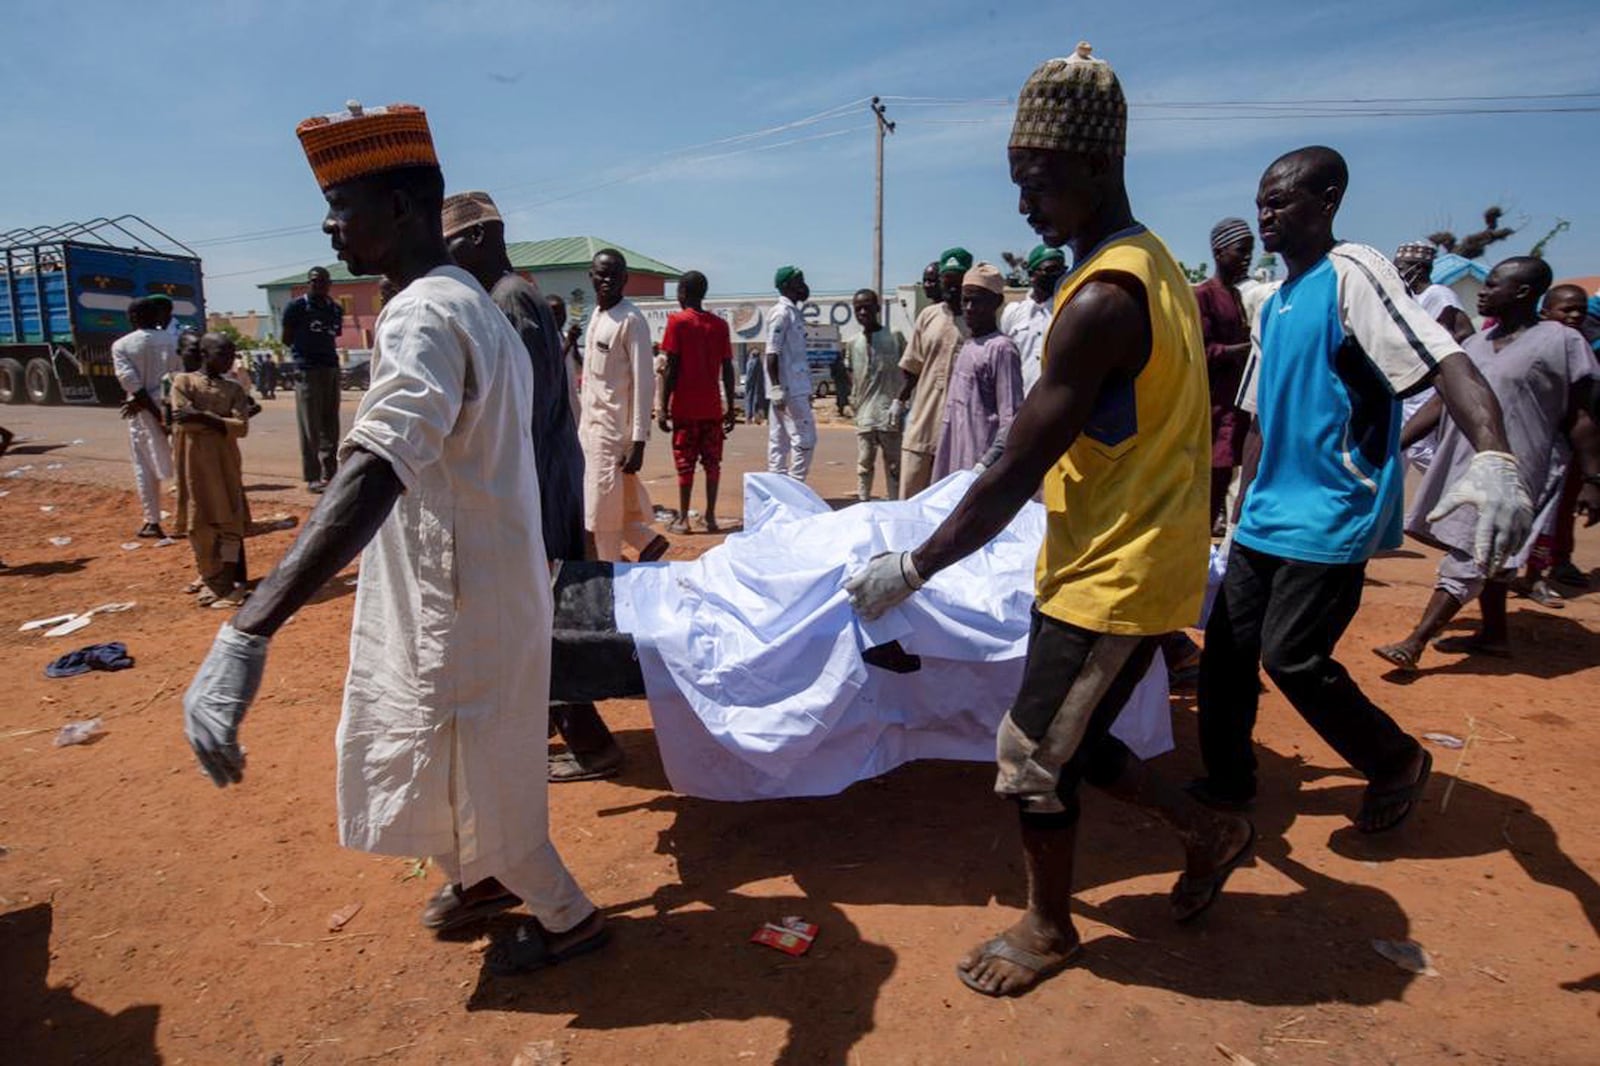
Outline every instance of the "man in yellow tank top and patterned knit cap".
[[1014, 996], [1078, 954], [1072, 860], [1080, 781], [1158, 813], [1187, 861], [1173, 916], [1205, 911], [1250, 853], [1243, 818], [1210, 812], [1162, 781], [1110, 723], [1162, 634], [1194, 626], [1205, 591], [1211, 408], [1190, 290], [1166, 246], [1133, 218], [1123, 186], [1126, 101], [1078, 45], [1042, 64], [1018, 96], [1011, 181], [1046, 245], [1070, 245], [1038, 384], [1005, 451], [950, 517], [910, 552], [846, 581], [866, 619], [1000, 533], [1043, 487], [1034, 627], [1022, 687], [995, 743], [995, 792], [1021, 810], [1027, 912], [974, 948], [957, 975]]

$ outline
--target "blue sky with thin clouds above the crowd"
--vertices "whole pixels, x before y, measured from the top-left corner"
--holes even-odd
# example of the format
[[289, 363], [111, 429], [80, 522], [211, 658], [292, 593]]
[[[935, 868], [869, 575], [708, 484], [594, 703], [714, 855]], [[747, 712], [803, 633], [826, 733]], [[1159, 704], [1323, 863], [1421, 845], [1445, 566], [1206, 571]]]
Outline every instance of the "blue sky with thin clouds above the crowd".
[[[885, 280], [955, 243], [1026, 251], [1003, 101], [1080, 38], [1133, 101], [1134, 211], [1184, 259], [1208, 258], [1218, 218], [1253, 218], [1266, 163], [1323, 142], [1350, 162], [1346, 238], [1466, 232], [1493, 202], [1523, 232], [1490, 258], [1565, 218], [1557, 277], [1600, 274], [1600, 114], [1243, 120], [1213, 104], [1600, 107], [1592, 0], [83, 0], [5, 22], [0, 230], [142, 214], [202, 251], [214, 311], [264, 307], [258, 282], [330, 258], [294, 125], [349, 98], [427, 107], [446, 182], [494, 194], [512, 238], [595, 234], [704, 271], [714, 295], [765, 291], [784, 262], [819, 291], [870, 283], [864, 98], [907, 98], [890, 99]], [[1499, 99], [1578, 93], [1594, 96]], [[1205, 106], [1158, 106], [1186, 102]], [[264, 230], [291, 232], [221, 240]]]

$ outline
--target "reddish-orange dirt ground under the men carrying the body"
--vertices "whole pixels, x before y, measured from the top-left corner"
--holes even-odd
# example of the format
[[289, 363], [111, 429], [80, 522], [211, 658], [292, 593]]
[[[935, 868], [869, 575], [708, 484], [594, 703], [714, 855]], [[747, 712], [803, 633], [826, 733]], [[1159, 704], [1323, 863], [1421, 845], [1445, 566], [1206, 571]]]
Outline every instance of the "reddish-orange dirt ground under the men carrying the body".
[[[8, 456], [0, 472], [26, 461]], [[843, 463], [819, 471], [829, 496], [851, 479]], [[245, 723], [248, 776], [219, 792], [181, 731], [179, 695], [221, 623], [179, 592], [187, 546], [123, 551], [136, 506], [106, 485], [29, 474], [0, 491], [6, 1061], [1222, 1063], [1221, 1048], [1259, 1066], [1595, 1060], [1595, 597], [1562, 611], [1514, 600], [1514, 661], [1435, 653], [1397, 685], [1368, 648], [1405, 632], [1434, 559], [1374, 562], [1344, 659], [1413, 731], [1475, 731], [1464, 760], [1434, 747], [1413, 823], [1360, 837], [1347, 820], [1358, 783], [1269, 693], [1256, 863], [1211, 914], [1174, 927], [1176, 845], [1090, 795], [1088, 951], [1018, 1000], [981, 999], [952, 973], [1021, 903], [1014, 815], [992, 797], [990, 768], [922, 763], [805, 802], [683, 799], [648, 707], [608, 704], [627, 770], [557, 787], [552, 832], [616, 938], [504, 980], [480, 973], [482, 930], [437, 941], [418, 925], [434, 871], [334, 842], [349, 575], [274, 642]], [[1600, 560], [1595, 533], [1581, 531], [1581, 562]], [[291, 538], [251, 538], [253, 570]], [[674, 555], [712, 543], [686, 538]], [[112, 600], [138, 607], [72, 637], [18, 632]], [[102, 640], [126, 642], [136, 667], [43, 675]], [[53, 746], [64, 722], [88, 717], [104, 720], [101, 738]], [[1174, 717], [1179, 747], [1160, 763], [1187, 779], [1192, 699], [1176, 696]], [[355, 903], [330, 932], [330, 914]], [[789, 914], [821, 925], [810, 956], [747, 943]], [[1374, 938], [1419, 941], [1437, 976], [1397, 968]]]

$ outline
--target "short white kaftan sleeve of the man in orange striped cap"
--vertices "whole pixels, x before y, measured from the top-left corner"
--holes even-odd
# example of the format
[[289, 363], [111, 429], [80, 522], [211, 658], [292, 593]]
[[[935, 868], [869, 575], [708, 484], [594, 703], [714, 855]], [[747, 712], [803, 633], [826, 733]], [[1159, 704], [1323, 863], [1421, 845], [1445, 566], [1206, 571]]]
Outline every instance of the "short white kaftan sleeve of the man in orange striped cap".
[[466, 395], [467, 346], [424, 301], [390, 307], [379, 323], [373, 379], [339, 458], [355, 448], [386, 459], [406, 491], [438, 461]]

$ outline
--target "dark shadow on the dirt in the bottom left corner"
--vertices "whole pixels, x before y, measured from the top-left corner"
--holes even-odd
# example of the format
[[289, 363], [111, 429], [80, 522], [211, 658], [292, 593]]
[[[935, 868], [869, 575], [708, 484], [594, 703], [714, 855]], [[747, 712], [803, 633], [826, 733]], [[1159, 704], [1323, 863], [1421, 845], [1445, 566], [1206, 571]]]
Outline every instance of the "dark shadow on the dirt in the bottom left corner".
[[53, 911], [40, 903], [0, 916], [0, 1045], [10, 1063], [160, 1063], [150, 1004], [109, 1015], [70, 988], [50, 988]]

